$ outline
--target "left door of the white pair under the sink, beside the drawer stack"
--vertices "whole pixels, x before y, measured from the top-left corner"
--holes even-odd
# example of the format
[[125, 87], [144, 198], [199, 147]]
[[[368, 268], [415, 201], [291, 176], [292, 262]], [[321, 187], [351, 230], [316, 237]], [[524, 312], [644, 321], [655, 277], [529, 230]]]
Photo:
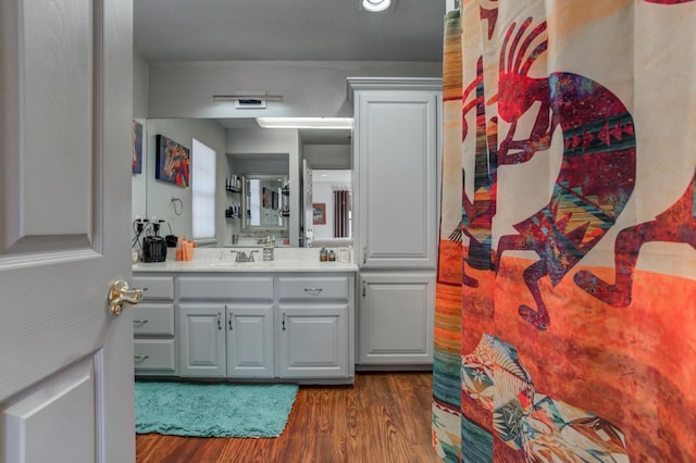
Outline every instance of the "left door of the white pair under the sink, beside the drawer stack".
[[181, 304], [178, 322], [181, 376], [225, 377], [225, 305]]

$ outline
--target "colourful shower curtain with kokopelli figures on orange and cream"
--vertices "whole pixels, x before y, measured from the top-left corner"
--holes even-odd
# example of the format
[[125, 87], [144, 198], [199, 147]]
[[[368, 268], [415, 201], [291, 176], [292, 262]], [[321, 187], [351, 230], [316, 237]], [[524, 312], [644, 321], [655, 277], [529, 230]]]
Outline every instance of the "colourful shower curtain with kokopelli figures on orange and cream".
[[445, 18], [433, 446], [696, 461], [696, 1]]

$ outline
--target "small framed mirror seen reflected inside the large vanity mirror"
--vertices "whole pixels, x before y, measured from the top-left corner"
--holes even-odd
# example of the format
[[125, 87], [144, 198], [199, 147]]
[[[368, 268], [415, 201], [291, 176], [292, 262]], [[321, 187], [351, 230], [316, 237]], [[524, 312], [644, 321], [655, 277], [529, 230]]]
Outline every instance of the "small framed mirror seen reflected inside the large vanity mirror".
[[244, 174], [241, 178], [243, 230], [285, 230], [290, 215], [287, 176]]

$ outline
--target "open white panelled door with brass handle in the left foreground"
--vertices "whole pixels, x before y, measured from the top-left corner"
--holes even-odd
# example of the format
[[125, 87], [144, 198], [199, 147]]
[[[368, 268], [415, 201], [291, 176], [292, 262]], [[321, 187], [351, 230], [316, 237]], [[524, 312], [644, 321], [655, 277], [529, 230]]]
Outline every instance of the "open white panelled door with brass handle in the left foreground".
[[133, 3], [0, 0], [0, 460], [135, 460]]

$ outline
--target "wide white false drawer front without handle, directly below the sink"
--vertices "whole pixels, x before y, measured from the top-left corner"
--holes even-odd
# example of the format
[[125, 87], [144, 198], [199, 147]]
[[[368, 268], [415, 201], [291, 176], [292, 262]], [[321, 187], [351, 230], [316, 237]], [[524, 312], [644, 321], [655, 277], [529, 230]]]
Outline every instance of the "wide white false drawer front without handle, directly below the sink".
[[244, 299], [273, 301], [273, 278], [182, 276], [178, 279], [179, 299]]

